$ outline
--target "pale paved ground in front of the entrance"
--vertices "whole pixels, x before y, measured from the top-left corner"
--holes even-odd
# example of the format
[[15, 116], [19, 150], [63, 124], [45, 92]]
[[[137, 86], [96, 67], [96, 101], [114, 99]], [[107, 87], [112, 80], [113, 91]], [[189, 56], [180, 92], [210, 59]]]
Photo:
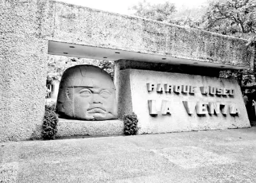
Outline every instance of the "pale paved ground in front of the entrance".
[[256, 127], [0, 143], [0, 182], [256, 182]]

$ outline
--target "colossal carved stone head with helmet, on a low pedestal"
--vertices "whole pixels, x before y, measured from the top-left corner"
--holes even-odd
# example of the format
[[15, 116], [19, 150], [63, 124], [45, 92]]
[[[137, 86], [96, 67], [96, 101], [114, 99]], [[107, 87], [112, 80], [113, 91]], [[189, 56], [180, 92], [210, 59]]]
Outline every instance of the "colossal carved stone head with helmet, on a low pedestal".
[[117, 119], [116, 88], [109, 74], [93, 65], [66, 69], [59, 84], [57, 112], [70, 119]]

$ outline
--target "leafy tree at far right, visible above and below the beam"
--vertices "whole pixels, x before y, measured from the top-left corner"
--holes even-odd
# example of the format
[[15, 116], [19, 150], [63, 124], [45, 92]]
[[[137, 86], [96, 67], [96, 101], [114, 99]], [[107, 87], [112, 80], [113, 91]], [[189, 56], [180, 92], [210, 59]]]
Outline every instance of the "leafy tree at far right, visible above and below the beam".
[[[247, 39], [245, 46], [256, 48], [256, 1], [255, 0], [219, 0], [209, 4], [204, 17], [204, 29], [228, 36]], [[224, 78], [237, 78], [239, 83], [246, 85], [252, 82], [252, 74], [256, 78], [256, 58], [254, 69], [245, 71], [223, 72]], [[242, 81], [243, 80], [243, 81]]]

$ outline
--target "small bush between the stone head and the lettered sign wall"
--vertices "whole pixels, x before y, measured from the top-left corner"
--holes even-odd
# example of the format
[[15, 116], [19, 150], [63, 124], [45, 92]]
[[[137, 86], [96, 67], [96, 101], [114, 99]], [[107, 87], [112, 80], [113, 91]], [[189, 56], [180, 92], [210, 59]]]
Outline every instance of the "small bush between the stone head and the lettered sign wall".
[[137, 135], [139, 130], [137, 115], [133, 112], [132, 114], [124, 115], [124, 135]]

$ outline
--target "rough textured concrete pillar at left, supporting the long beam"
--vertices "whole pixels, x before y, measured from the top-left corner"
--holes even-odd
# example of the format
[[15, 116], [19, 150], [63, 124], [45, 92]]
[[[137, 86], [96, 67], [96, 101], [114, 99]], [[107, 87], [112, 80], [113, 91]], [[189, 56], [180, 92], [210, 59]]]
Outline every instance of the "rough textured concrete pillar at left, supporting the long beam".
[[40, 135], [51, 6], [45, 1], [1, 4], [0, 141]]

